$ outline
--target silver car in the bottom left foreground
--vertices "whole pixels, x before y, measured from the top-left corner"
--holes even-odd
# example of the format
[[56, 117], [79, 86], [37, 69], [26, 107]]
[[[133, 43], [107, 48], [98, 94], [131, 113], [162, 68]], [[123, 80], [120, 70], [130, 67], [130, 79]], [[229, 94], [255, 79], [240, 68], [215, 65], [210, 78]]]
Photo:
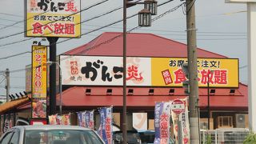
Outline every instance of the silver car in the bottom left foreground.
[[88, 128], [80, 126], [14, 126], [0, 138], [1, 144], [104, 144]]

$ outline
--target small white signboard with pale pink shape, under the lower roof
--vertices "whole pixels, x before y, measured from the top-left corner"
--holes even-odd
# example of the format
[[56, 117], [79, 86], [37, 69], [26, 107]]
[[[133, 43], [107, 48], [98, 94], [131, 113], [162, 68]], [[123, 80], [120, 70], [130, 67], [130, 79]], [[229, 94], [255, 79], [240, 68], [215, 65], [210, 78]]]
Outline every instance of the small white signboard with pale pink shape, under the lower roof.
[[147, 113], [133, 113], [133, 127], [136, 130], [147, 130]]

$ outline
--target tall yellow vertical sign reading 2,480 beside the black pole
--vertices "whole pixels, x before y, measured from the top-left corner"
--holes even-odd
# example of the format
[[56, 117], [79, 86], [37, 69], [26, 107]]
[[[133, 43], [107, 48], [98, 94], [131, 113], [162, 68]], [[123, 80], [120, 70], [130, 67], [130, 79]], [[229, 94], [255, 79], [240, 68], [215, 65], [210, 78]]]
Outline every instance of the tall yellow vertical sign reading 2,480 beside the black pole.
[[46, 118], [47, 47], [32, 46], [32, 118]]

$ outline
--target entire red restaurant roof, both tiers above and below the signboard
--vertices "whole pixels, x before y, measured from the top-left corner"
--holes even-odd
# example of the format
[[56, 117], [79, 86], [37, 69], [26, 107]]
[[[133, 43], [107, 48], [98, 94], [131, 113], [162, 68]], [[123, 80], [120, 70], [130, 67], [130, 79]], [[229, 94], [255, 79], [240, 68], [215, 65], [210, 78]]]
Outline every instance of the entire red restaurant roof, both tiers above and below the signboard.
[[[181, 42], [162, 38], [154, 34], [127, 34], [127, 56], [138, 57], [187, 57], [187, 46]], [[122, 56], [122, 33], [106, 32], [93, 41], [67, 51], [64, 54]], [[227, 58], [210, 51], [197, 50], [198, 58]], [[86, 89], [91, 94], [86, 95]], [[106, 89], [112, 89], [112, 95], [106, 95]], [[129, 88], [127, 88], [128, 90]], [[127, 106], [154, 106], [155, 102], [170, 101], [175, 98], [186, 98], [183, 88], [155, 87], [154, 95], [149, 95], [145, 87], [133, 87], [134, 94], [127, 96]], [[169, 95], [169, 90], [174, 94]], [[199, 106], [207, 106], [207, 89], [199, 88]], [[247, 86], [239, 84], [235, 93], [230, 95], [230, 89], [216, 88], [215, 94], [210, 95], [211, 110], [247, 110]], [[58, 101], [57, 101], [58, 102]], [[73, 86], [62, 92], [62, 106], [122, 106], [122, 87], [82, 87]]]

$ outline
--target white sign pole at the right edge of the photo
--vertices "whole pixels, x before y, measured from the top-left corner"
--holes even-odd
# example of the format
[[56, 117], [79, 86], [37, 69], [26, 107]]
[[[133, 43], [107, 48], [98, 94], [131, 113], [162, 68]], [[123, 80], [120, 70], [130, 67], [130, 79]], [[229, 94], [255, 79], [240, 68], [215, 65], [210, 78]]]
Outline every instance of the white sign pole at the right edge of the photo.
[[248, 114], [249, 128], [256, 131], [256, 1], [226, 0], [227, 3], [246, 3], [247, 5], [247, 58], [248, 58]]

